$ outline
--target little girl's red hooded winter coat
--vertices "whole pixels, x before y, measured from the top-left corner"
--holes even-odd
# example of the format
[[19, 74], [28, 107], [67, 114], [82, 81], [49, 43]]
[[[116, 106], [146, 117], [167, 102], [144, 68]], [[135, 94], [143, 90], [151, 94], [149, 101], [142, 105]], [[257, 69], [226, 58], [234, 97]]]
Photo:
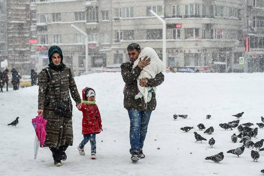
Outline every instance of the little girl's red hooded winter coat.
[[[84, 88], [82, 90], [82, 98], [84, 99]], [[82, 134], [100, 133], [102, 124], [99, 109], [96, 104], [82, 103]]]

